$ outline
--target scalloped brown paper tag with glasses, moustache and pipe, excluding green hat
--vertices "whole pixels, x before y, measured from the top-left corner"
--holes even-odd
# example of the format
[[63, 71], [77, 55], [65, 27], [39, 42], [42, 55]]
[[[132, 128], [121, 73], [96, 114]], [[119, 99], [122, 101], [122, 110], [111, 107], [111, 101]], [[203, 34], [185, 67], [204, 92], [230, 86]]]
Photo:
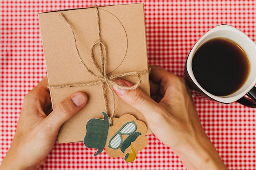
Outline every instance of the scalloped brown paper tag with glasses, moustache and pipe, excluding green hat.
[[120, 118], [112, 118], [106, 143], [106, 153], [110, 157], [122, 157], [127, 162], [136, 159], [137, 152], [148, 144], [147, 127], [144, 122], [126, 114]]

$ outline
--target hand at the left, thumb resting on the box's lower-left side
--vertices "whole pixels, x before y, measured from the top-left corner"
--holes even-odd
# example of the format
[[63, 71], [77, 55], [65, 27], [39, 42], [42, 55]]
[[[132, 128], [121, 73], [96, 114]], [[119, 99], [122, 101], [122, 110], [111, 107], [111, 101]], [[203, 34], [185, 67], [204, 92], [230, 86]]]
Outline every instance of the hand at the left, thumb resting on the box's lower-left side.
[[[24, 99], [16, 134], [0, 170], [35, 170], [45, 163], [61, 125], [78, 113], [88, 97], [78, 92], [52, 111], [47, 77]], [[52, 112], [51, 112], [52, 111]]]

